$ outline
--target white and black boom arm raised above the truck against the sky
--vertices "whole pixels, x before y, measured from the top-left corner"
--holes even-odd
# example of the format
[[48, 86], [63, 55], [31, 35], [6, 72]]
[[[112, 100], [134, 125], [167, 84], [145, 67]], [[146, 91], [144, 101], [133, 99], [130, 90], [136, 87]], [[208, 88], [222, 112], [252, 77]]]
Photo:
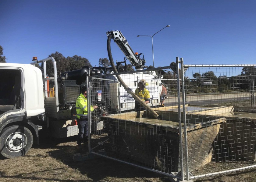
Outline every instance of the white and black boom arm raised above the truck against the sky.
[[140, 56], [137, 56], [130, 45], [128, 44], [126, 38], [123, 36], [123, 34], [120, 31], [110, 31], [107, 32], [107, 35], [112, 35], [112, 39], [114, 42], [118, 45], [118, 47], [121, 49], [121, 51], [124, 53], [126, 58], [130, 61], [130, 63], [133, 66], [136, 66], [137, 68], [145, 68], [147, 66], [145, 65], [145, 59], [141, 59]]

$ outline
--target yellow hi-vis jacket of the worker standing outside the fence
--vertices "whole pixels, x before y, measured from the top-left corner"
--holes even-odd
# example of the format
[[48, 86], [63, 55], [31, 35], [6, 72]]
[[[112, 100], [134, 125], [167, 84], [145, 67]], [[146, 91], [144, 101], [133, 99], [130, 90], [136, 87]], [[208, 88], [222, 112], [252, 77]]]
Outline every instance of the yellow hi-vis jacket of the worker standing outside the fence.
[[[91, 106], [91, 111], [93, 111]], [[80, 119], [81, 116], [88, 116], [87, 98], [83, 94], [76, 99], [76, 117]]]

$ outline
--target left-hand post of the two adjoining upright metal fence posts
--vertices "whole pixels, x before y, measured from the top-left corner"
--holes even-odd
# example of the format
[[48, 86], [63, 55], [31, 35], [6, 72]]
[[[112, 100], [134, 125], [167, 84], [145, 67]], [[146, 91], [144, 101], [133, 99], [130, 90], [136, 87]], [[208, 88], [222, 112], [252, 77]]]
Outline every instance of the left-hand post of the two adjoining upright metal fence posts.
[[180, 68], [179, 68], [179, 57], [176, 57], [176, 74], [177, 74], [177, 96], [178, 96], [178, 118], [179, 118], [179, 129], [180, 129], [180, 176], [181, 180], [184, 180], [183, 172], [183, 144], [182, 144], [182, 125], [181, 125], [181, 110], [180, 110]]

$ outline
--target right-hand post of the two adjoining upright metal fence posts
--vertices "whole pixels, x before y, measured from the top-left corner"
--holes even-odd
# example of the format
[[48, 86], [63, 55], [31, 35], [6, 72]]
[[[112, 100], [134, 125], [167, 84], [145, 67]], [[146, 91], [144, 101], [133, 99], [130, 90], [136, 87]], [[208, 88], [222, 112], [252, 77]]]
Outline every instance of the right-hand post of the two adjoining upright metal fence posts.
[[181, 69], [181, 89], [183, 102], [183, 126], [184, 126], [184, 143], [185, 143], [185, 157], [186, 157], [186, 178], [189, 180], [189, 166], [188, 166], [188, 147], [187, 147], [187, 121], [186, 121], [186, 97], [185, 97], [185, 81], [184, 81], [184, 67], [183, 58], [180, 58]]

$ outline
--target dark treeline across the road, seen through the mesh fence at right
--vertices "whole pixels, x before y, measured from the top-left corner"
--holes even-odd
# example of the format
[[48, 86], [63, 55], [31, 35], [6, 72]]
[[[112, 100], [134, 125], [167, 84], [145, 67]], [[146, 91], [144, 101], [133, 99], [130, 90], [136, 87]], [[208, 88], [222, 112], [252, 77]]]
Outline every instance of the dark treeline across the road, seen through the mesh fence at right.
[[[175, 66], [172, 62], [171, 65]], [[173, 70], [158, 70], [156, 74], [162, 80], [168, 93], [177, 93], [177, 74]], [[229, 75], [229, 73], [227, 73]], [[233, 71], [230, 69], [230, 74]], [[241, 69], [241, 73], [235, 76], [217, 77], [213, 71], [204, 73], [195, 72], [191, 78], [185, 74], [185, 90], [187, 93], [216, 93], [216, 92], [243, 92], [252, 91], [256, 87], [256, 68], [247, 66]], [[180, 71], [180, 79], [181, 79]], [[181, 85], [181, 81], [180, 81]], [[181, 89], [181, 87], [180, 87]]]

